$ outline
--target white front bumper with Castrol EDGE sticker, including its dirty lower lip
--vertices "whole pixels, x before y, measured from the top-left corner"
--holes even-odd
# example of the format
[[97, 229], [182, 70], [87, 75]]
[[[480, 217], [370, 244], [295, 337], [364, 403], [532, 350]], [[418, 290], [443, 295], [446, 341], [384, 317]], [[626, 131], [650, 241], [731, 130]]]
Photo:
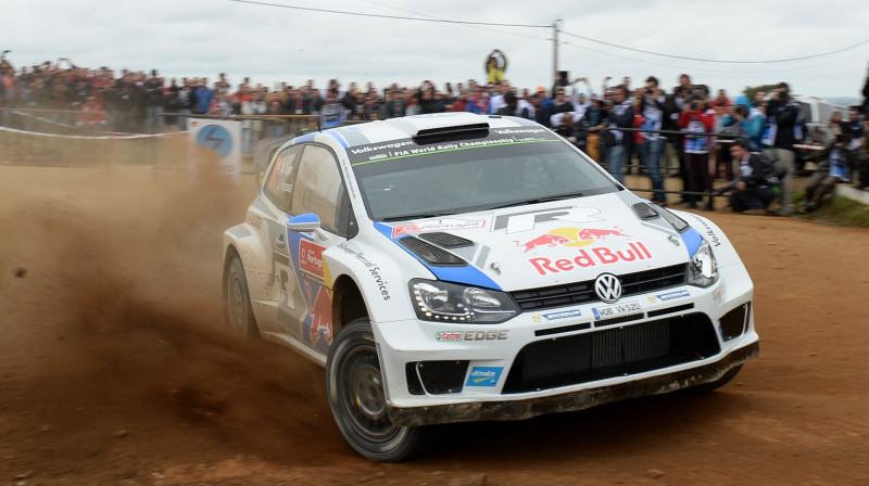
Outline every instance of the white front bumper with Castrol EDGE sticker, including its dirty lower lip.
[[592, 303], [493, 325], [375, 322], [389, 415], [519, 420], [715, 382], [759, 349], [744, 266], [719, 270], [708, 289], [626, 299], [640, 308], [624, 320]]

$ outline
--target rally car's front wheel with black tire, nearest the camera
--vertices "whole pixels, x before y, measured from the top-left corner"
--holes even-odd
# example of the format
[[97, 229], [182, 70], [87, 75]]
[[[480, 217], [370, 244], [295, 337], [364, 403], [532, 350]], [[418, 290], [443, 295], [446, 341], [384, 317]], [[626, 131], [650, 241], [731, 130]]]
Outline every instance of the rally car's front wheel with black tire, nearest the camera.
[[393, 424], [387, 417], [377, 346], [367, 319], [345, 325], [329, 348], [326, 392], [344, 439], [366, 458], [401, 462], [433, 443], [432, 427]]

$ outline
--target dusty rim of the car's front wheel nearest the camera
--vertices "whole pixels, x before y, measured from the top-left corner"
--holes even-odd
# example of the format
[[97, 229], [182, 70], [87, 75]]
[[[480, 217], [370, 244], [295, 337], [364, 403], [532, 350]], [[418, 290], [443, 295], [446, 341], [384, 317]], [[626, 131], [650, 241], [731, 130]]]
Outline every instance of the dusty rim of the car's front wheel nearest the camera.
[[344, 382], [341, 407], [357, 433], [367, 440], [383, 443], [403, 432], [387, 417], [383, 378], [373, 346], [349, 350], [339, 373]]

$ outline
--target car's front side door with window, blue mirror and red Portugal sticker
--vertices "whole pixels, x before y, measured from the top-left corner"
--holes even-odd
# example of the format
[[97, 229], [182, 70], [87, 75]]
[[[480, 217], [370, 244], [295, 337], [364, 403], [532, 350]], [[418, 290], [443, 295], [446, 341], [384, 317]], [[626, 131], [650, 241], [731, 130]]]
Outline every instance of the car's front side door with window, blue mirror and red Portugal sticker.
[[325, 354], [332, 342], [332, 279], [323, 253], [347, 241], [349, 200], [338, 159], [326, 145], [306, 144], [295, 172], [287, 221], [314, 214], [322, 230], [299, 232], [285, 227], [295, 290], [302, 297], [286, 310], [295, 327], [293, 335]]

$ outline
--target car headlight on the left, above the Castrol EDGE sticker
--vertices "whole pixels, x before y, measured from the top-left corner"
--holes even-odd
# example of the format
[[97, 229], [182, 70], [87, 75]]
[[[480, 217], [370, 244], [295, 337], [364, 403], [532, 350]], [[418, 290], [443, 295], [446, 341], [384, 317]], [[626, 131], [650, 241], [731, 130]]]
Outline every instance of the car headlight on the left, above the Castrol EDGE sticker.
[[411, 298], [426, 321], [496, 324], [520, 311], [504, 292], [433, 280], [412, 280]]

